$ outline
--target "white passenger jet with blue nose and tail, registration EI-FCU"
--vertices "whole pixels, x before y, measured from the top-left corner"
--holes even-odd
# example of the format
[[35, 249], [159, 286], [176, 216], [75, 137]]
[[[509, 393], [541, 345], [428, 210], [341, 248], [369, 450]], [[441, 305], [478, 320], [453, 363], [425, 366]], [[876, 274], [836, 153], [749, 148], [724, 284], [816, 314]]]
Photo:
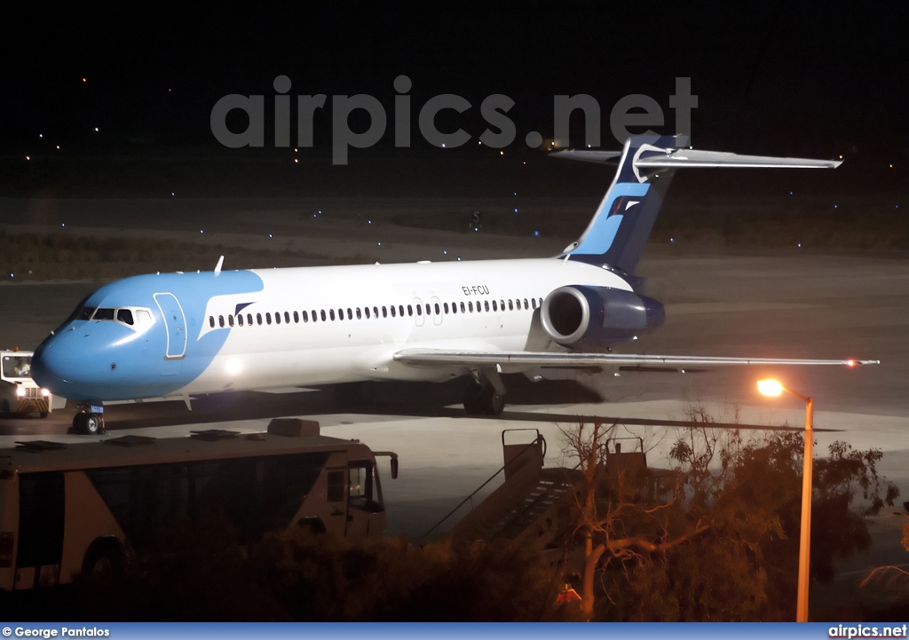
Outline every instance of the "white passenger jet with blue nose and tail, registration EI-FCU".
[[621, 152], [554, 154], [618, 165], [561, 255], [234, 271], [222, 256], [211, 272], [128, 277], [76, 307], [35, 351], [32, 374], [76, 401], [76, 433], [94, 434], [116, 400], [191, 408], [192, 395], [470, 375], [467, 413], [499, 415], [502, 374], [539, 367], [876, 364], [608, 352], [664, 322], [634, 271], [676, 169], [840, 165], [687, 146], [686, 136], [633, 135]]

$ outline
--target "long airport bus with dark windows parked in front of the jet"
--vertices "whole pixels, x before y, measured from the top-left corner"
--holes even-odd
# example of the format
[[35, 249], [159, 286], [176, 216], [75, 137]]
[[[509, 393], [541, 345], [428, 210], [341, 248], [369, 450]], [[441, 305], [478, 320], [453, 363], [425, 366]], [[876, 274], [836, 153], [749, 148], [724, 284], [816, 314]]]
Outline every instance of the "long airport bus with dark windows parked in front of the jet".
[[392, 477], [397, 456], [293, 424], [305, 422], [0, 449], [0, 590], [115, 575], [151, 532], [206, 516], [240, 542], [293, 527], [353, 542], [384, 535], [375, 456], [391, 456]]

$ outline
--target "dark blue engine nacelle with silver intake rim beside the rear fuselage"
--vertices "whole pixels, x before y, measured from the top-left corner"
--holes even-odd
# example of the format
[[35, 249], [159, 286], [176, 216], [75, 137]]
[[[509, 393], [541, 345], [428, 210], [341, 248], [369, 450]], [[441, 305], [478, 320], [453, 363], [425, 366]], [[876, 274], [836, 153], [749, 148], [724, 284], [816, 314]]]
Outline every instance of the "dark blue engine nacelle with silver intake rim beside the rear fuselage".
[[540, 309], [544, 331], [560, 345], [627, 342], [664, 319], [663, 305], [653, 298], [608, 286], [559, 287]]

